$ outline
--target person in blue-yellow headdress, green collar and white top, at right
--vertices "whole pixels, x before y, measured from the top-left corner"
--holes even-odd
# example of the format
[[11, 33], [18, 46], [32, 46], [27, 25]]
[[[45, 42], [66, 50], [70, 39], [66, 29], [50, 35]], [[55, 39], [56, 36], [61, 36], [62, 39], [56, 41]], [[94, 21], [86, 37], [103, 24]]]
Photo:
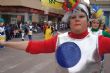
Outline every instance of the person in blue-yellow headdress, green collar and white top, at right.
[[94, 35], [104, 35], [110, 37], [110, 33], [103, 31], [105, 24], [104, 11], [97, 5], [91, 6], [91, 28], [90, 32]]

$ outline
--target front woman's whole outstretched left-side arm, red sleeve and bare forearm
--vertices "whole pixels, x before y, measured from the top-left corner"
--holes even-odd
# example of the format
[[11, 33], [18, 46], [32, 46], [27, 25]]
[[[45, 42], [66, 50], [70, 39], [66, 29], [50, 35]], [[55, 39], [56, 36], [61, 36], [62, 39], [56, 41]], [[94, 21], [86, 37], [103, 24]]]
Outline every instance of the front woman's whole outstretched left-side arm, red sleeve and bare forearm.
[[51, 53], [56, 48], [57, 35], [53, 36], [49, 40], [32, 40], [32, 41], [16, 41], [16, 42], [4, 42], [0, 41], [0, 45], [10, 47], [13, 49], [24, 50], [31, 54], [38, 53]]

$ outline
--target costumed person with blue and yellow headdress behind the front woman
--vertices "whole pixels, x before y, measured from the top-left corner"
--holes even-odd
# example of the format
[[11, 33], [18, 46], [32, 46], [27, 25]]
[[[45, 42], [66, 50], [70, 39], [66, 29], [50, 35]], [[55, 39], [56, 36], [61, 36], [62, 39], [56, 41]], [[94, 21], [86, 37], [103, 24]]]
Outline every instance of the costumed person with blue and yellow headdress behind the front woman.
[[[93, 5], [92, 10], [95, 10], [95, 11], [94, 11], [94, 13], [92, 13], [91, 28], [89, 29], [90, 33], [92, 33], [93, 35], [96, 35], [96, 36], [103, 35], [105, 37], [110, 38], [110, 32], [108, 32], [106, 30], [106, 28], [104, 28], [105, 16], [103, 15], [103, 10], [100, 11], [101, 8], [98, 8], [98, 6], [96, 6], [96, 5]], [[102, 56], [102, 61], [101, 61], [101, 63], [102, 63], [101, 70], [100, 70], [101, 73], [102, 73], [102, 71], [104, 71], [103, 62], [104, 62], [104, 56]]]

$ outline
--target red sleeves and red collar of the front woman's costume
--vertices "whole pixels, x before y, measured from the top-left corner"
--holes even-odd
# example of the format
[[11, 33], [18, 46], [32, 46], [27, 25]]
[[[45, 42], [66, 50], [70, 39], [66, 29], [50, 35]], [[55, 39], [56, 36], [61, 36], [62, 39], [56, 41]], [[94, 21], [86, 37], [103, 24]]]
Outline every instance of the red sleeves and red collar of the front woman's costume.
[[[71, 38], [82, 39], [88, 35], [88, 31], [77, 35], [75, 33], [69, 32], [68, 35]], [[57, 43], [58, 35], [52, 37], [49, 40], [42, 40], [42, 41], [29, 41], [28, 46], [26, 48], [26, 52], [31, 54], [39, 54], [39, 53], [52, 53], [55, 52], [56, 43]], [[100, 56], [105, 53], [110, 53], [110, 38], [99, 36], [98, 37], [98, 50]]]

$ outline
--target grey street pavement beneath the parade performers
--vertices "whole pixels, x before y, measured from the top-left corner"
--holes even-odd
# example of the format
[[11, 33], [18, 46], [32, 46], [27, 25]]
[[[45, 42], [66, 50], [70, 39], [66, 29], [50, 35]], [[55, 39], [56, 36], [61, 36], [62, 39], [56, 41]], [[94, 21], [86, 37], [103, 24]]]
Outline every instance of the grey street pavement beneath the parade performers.
[[[42, 40], [43, 33], [34, 34], [33, 39]], [[110, 73], [109, 62], [110, 55], [105, 55], [104, 73]], [[0, 73], [55, 73], [55, 67], [54, 53], [32, 55], [12, 48], [0, 48]]]

